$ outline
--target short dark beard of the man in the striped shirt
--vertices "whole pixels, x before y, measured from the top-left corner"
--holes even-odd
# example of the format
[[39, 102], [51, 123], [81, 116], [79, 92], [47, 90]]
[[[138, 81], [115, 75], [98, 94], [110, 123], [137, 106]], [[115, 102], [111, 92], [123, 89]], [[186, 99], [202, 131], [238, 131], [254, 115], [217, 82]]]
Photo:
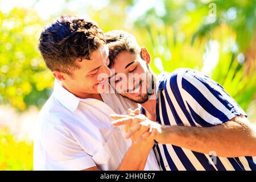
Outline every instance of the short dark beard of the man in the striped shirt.
[[121, 96], [128, 98], [129, 100], [136, 102], [138, 104], [143, 104], [144, 102], [148, 101], [150, 96], [154, 93], [155, 90], [155, 77], [154, 73], [151, 71], [150, 67], [146, 64], [147, 71], [147, 85], [146, 85], [146, 93], [141, 93], [136, 98], [131, 98], [129, 96], [121, 94]]

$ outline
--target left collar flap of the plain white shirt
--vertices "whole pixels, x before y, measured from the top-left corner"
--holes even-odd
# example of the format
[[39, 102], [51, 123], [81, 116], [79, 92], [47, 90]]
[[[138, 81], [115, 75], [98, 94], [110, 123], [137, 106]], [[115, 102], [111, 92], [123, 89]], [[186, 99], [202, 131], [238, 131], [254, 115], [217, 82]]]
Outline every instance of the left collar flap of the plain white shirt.
[[74, 94], [64, 89], [63, 86], [55, 79], [53, 88], [53, 97], [55, 97], [60, 104], [67, 107], [67, 109], [74, 112], [79, 105], [80, 98], [76, 97]]

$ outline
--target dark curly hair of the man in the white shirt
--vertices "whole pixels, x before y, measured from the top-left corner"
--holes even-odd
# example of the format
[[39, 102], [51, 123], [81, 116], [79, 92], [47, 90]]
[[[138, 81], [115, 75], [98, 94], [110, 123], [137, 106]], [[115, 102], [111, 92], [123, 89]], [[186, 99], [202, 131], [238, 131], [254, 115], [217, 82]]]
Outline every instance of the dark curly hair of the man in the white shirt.
[[62, 15], [44, 28], [38, 47], [51, 71], [72, 75], [79, 68], [77, 58], [90, 60], [90, 54], [104, 44], [104, 34], [95, 22]]

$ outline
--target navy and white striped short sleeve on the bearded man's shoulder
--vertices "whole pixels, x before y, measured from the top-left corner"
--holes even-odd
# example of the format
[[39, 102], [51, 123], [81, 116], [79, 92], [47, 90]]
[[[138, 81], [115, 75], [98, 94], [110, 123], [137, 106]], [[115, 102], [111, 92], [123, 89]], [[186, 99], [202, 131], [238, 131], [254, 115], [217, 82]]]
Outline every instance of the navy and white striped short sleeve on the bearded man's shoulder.
[[182, 93], [188, 110], [203, 126], [218, 125], [230, 119], [244, 115], [245, 111], [225, 91], [225, 89], [203, 75], [203, 73], [187, 70], [181, 79]]

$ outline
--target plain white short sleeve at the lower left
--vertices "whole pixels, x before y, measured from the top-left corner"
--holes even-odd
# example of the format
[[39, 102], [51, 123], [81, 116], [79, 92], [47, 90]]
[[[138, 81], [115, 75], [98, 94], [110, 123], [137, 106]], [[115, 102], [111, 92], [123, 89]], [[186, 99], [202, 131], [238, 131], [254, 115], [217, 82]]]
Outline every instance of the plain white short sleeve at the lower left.
[[43, 127], [42, 144], [49, 156], [48, 170], [76, 171], [96, 166], [64, 126], [47, 123]]

